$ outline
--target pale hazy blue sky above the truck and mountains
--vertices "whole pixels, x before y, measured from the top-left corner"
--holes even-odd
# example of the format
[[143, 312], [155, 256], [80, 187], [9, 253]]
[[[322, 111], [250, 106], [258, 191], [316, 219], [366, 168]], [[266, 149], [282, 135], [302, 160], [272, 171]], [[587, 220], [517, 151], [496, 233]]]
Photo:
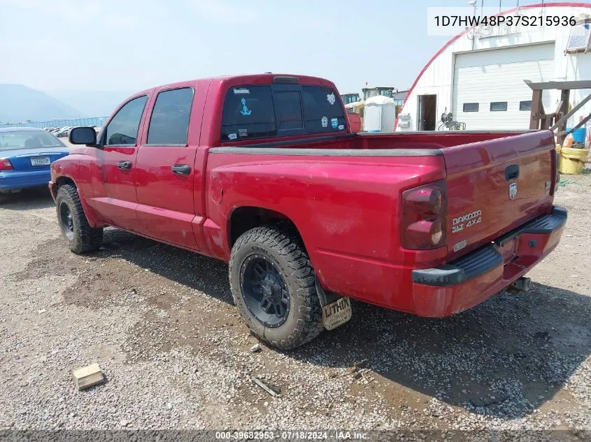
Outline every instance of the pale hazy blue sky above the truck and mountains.
[[402, 90], [450, 38], [427, 36], [427, 6], [467, 0], [0, 0], [0, 84], [134, 92], [271, 71]]

